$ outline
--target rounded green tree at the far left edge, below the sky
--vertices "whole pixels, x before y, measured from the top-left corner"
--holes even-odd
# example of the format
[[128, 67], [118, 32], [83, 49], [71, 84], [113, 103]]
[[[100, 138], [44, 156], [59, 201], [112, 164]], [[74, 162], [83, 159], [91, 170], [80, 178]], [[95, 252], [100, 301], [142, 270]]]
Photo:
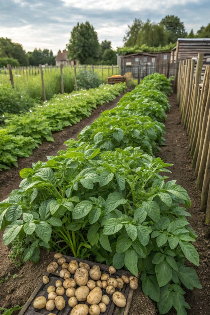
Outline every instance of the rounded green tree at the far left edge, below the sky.
[[20, 66], [28, 65], [28, 56], [23, 46], [19, 43], [13, 43], [7, 37], [0, 37], [0, 57], [17, 59]]

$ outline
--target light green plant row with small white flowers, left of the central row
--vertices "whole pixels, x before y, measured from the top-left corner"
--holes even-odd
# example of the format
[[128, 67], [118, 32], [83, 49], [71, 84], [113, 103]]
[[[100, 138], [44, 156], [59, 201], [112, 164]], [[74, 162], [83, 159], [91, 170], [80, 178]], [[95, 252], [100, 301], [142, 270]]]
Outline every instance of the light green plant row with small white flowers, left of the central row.
[[18, 157], [29, 157], [43, 140], [54, 141], [52, 132], [89, 117], [93, 109], [114, 100], [126, 86], [101, 85], [97, 89], [55, 95], [23, 114], [10, 114], [0, 128], [0, 171], [18, 166]]

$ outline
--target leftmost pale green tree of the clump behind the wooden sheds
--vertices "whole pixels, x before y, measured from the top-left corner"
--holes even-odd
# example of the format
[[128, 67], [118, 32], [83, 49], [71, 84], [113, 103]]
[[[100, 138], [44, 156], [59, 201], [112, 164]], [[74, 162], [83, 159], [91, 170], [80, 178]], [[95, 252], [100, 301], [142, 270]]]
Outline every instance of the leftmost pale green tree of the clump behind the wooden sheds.
[[126, 31], [123, 37], [123, 42], [125, 46], [135, 46], [137, 43], [137, 38], [139, 31], [144, 26], [144, 22], [141, 19], [133, 20], [132, 25], [128, 25], [128, 31]]

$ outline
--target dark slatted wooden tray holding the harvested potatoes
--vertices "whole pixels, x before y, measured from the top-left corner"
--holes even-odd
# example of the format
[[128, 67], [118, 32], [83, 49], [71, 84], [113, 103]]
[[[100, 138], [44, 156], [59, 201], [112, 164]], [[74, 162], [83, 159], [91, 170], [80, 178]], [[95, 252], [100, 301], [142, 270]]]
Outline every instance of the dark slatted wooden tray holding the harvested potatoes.
[[[99, 263], [92, 262], [92, 261], [77, 259], [77, 258], [74, 258], [74, 257], [65, 256], [65, 255], [64, 255], [64, 257], [65, 257], [67, 263], [69, 263], [71, 260], [74, 259], [74, 260], [77, 260], [78, 262], [82, 261], [82, 262], [87, 263], [91, 268], [94, 265], [98, 265], [100, 267], [100, 270], [101, 270], [102, 273], [103, 272], [109, 273], [109, 266], [107, 266], [107, 265], [99, 264]], [[54, 261], [56, 261], [56, 260], [54, 260]], [[38, 297], [38, 296], [45, 296], [46, 299], [47, 299], [47, 297], [48, 297], [48, 293], [47, 293], [48, 286], [50, 286], [50, 285], [54, 285], [55, 286], [55, 281], [58, 280], [58, 279], [63, 281], [63, 279], [61, 279], [59, 277], [60, 270], [61, 270], [61, 266], [58, 266], [57, 271], [55, 271], [54, 273], [48, 273], [48, 272], [45, 273], [45, 275], [48, 276], [48, 278], [49, 278], [48, 284], [43, 284], [43, 281], [42, 281], [42, 278], [41, 278], [39, 284], [37, 285], [37, 287], [34, 290], [34, 292], [31, 294], [30, 298], [28, 299], [28, 301], [26, 302], [24, 307], [21, 309], [19, 315], [23, 315], [23, 314], [24, 315], [41, 315], [41, 314], [48, 315], [49, 313], [54, 313], [56, 315], [70, 315], [72, 307], [70, 307], [68, 305], [68, 299], [69, 298], [65, 294], [63, 295], [63, 298], [65, 299], [65, 308], [62, 311], [57, 310], [56, 307], [54, 308], [53, 311], [47, 311], [45, 307], [43, 309], [41, 309], [41, 310], [35, 309], [33, 307], [33, 301], [35, 300], [36, 297]], [[116, 277], [116, 276], [121, 277], [122, 275], [126, 275], [128, 277], [133, 276], [133, 274], [131, 272], [128, 272], [126, 270], [117, 270], [114, 275], [110, 275], [110, 276], [111, 277]], [[72, 275], [71, 278], [74, 278], [74, 275]], [[89, 277], [89, 279], [91, 279], [91, 278]], [[76, 286], [76, 288], [77, 287], [78, 286]], [[118, 289], [116, 289], [116, 290], [118, 290]], [[130, 288], [129, 284], [124, 284], [122, 290], [119, 290], [119, 291], [121, 291], [124, 294], [124, 296], [125, 296], [125, 298], [127, 300], [126, 306], [122, 309], [120, 314], [121, 315], [128, 315], [128, 311], [129, 311], [129, 308], [130, 308], [130, 305], [131, 305], [132, 296], [133, 296], [133, 290]], [[103, 295], [107, 294], [105, 289], [102, 289], [102, 292], [103, 292]], [[112, 295], [109, 295], [109, 297], [110, 297], [110, 303], [107, 305], [106, 312], [100, 313], [100, 315], [112, 315], [112, 314], [113, 315], [118, 315], [120, 307], [116, 306], [113, 303]], [[87, 301], [85, 301], [85, 302], [78, 302], [78, 303], [80, 303], [80, 304], [84, 304], [85, 303], [85, 304], [88, 305]]]

